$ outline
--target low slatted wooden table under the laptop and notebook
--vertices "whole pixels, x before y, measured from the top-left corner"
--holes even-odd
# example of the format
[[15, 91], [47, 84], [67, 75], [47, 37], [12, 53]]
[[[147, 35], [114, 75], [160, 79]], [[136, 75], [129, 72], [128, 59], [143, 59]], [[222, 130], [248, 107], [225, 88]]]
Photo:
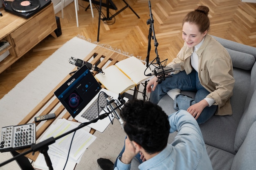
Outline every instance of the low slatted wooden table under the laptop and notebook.
[[[102, 68], [103, 66], [114, 65], [118, 61], [126, 59], [128, 56], [117, 53], [115, 51], [103, 48], [101, 46], [96, 46], [92, 52], [87, 55], [84, 59], [84, 61], [89, 61], [93, 65], [97, 65], [99, 68]], [[93, 60], [91, 60], [93, 59]], [[73, 71], [76, 71], [76, 68], [74, 68]], [[72, 71], [71, 71], [72, 72]], [[93, 74], [96, 74], [96, 71], [93, 71]], [[31, 123], [32, 120], [34, 120], [34, 117], [39, 115], [47, 115], [49, 113], [53, 113], [52, 110], [55, 110], [54, 113], [56, 115], [55, 119], [58, 118], [64, 118], [69, 119], [70, 114], [68, 112], [65, 113], [65, 108], [62, 104], [60, 104], [58, 98], [54, 95], [54, 91], [57, 90], [71, 75], [67, 75], [59, 84], [56, 86], [31, 112], [24, 118], [18, 125], [22, 124], [28, 124]], [[102, 86], [103, 87], [103, 86]], [[103, 87], [104, 88], [104, 87]], [[134, 93], [134, 96], [137, 96], [137, 92]], [[64, 111], [64, 113], [63, 113]], [[47, 128], [54, 122], [55, 119], [49, 119], [47, 121], [41, 121], [36, 123], [36, 139], [38, 139]], [[76, 121], [72, 119], [72, 121]], [[33, 123], [35, 123], [33, 121]], [[94, 134], [95, 130], [91, 129], [90, 133]], [[26, 152], [28, 149], [24, 150], [17, 150], [17, 151], [11, 151], [11, 154], [14, 156], [19, 155], [20, 153]], [[20, 165], [20, 168], [22, 170], [34, 170], [34, 168], [31, 166], [31, 163], [29, 159], [32, 161], [36, 161], [36, 158], [39, 155], [39, 151], [35, 152], [34, 155], [32, 153], [29, 153], [25, 155], [25, 157], [20, 158], [19, 160], [16, 160], [17, 163]], [[28, 159], [29, 158], [29, 159]]]

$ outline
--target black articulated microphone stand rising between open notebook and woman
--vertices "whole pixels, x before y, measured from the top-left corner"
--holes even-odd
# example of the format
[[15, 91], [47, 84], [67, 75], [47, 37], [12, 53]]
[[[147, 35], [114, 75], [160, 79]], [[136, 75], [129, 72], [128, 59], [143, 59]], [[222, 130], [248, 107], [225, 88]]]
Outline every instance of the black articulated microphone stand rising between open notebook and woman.
[[[150, 0], [148, 1], [148, 7], [149, 7], [150, 19], [147, 20], [147, 24], [149, 25], [149, 31], [148, 31], [148, 52], [147, 52], [147, 57], [146, 57], [146, 67], [147, 67], [146, 70], [148, 69], [148, 67], [151, 64], [158, 64], [160, 67], [162, 67], [162, 64], [160, 62], [160, 58], [159, 58], [159, 55], [157, 52], [158, 42], [157, 42], [157, 39], [155, 38], [154, 20], [153, 20], [153, 14], [151, 11]], [[153, 33], [153, 35], [152, 35], [152, 33]], [[149, 64], [149, 55], [150, 55], [150, 50], [151, 50], [151, 39], [154, 40], [156, 58]], [[156, 60], [156, 63], [153, 63], [155, 60]], [[164, 60], [164, 61], [167, 61], [167, 60]], [[145, 70], [145, 72], [146, 72], [146, 70]], [[144, 75], [146, 75], [145, 72], [144, 72]], [[158, 77], [157, 81], [160, 84], [162, 82], [162, 80], [164, 80], [164, 79], [165, 79], [165, 77]], [[144, 101], [146, 99], [146, 85], [147, 85], [147, 81], [145, 82], [145, 86], [144, 86], [144, 98], [143, 98]]]

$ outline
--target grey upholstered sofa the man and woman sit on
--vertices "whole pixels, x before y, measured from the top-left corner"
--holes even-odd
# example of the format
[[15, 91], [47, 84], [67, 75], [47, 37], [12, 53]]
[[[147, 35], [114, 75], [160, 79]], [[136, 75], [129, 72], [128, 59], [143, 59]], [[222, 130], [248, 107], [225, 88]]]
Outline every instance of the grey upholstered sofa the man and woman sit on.
[[[256, 170], [256, 48], [214, 38], [229, 52], [236, 82], [231, 97], [233, 115], [214, 115], [200, 125], [207, 152], [214, 170]], [[176, 111], [168, 95], [158, 105], [168, 115]], [[169, 142], [173, 137], [175, 134]]]

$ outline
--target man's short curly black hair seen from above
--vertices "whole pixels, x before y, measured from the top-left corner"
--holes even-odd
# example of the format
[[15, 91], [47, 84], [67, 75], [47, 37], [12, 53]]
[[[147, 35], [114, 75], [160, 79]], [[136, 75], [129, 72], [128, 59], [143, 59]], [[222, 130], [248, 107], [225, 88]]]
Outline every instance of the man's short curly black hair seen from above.
[[121, 117], [129, 139], [142, 146], [147, 153], [153, 154], [166, 147], [170, 124], [160, 106], [135, 99], [126, 102]]

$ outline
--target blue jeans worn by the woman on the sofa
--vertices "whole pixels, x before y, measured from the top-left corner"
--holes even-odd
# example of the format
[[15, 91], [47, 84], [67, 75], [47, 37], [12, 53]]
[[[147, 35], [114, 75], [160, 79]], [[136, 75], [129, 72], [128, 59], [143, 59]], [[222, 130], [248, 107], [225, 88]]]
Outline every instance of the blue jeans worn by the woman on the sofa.
[[[195, 99], [182, 94], [177, 95], [174, 99], [174, 108], [176, 110], [187, 110], [191, 105], [200, 102], [210, 93], [200, 83], [197, 71], [193, 70], [189, 75], [187, 75], [185, 71], [181, 71], [178, 74], [172, 75], [172, 77], [166, 77], [161, 84], [158, 84], [155, 91], [152, 91], [150, 94], [150, 102], [158, 104], [160, 99], [173, 88], [196, 93]], [[216, 105], [205, 107], [197, 119], [198, 124], [203, 124], [210, 119], [217, 108], [218, 106]]]

